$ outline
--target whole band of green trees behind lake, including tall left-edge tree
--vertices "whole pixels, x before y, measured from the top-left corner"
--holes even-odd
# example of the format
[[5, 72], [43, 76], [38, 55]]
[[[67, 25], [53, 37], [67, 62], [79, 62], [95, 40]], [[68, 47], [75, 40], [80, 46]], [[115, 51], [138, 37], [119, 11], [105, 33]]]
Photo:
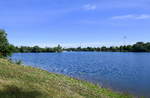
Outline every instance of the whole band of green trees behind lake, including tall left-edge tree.
[[77, 47], [77, 48], [62, 48], [60, 45], [57, 47], [39, 46], [14, 46], [7, 40], [7, 33], [0, 30], [0, 57], [10, 56], [13, 52], [17, 53], [39, 53], [39, 52], [63, 52], [63, 51], [97, 51], [97, 52], [150, 52], [150, 42], [137, 42], [133, 45], [122, 46], [102, 46], [102, 47]]

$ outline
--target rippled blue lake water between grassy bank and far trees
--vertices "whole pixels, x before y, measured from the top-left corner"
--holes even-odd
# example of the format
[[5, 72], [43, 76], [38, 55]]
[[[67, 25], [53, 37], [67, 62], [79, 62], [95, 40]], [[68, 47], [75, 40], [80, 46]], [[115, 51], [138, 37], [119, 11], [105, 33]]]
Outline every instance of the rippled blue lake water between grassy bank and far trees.
[[150, 53], [16, 53], [13, 60], [150, 98]]

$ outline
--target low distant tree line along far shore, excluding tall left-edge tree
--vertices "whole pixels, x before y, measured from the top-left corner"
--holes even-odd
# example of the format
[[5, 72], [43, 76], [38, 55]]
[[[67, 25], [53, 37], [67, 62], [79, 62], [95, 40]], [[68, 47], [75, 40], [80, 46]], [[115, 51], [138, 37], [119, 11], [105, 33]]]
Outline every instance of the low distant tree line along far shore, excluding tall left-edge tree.
[[57, 47], [40, 48], [39, 46], [16, 47], [16, 52], [62, 52], [62, 51], [104, 51], [104, 52], [150, 52], [150, 43], [137, 42], [134, 45], [111, 46], [111, 47], [77, 47], [77, 48], [62, 48], [60, 45]]

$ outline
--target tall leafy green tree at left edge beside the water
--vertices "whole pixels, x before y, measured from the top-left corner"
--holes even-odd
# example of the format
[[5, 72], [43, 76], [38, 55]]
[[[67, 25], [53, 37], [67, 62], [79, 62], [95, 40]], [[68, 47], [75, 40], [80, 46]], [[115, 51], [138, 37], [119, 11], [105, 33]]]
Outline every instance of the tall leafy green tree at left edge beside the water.
[[7, 57], [11, 55], [14, 47], [10, 45], [7, 40], [7, 34], [4, 30], [0, 30], [0, 57]]

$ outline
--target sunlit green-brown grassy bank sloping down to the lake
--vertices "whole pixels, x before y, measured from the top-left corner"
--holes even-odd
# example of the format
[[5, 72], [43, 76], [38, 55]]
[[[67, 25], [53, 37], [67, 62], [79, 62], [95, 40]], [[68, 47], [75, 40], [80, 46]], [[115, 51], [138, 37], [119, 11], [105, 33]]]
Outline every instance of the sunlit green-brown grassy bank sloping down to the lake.
[[132, 98], [132, 96], [0, 59], [0, 98]]

